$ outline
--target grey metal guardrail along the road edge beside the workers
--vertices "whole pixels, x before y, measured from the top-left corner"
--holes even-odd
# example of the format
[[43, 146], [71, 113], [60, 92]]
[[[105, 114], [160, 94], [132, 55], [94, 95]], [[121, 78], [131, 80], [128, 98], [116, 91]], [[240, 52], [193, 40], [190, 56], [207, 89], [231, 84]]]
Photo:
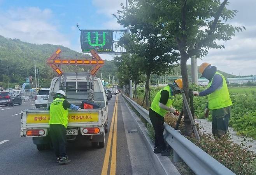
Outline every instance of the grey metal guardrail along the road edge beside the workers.
[[[124, 94], [122, 95], [151, 124], [148, 110]], [[174, 150], [175, 162], [181, 158], [197, 175], [235, 175], [235, 173], [231, 172], [231, 170], [197, 147], [167, 123], [164, 123], [164, 128], [165, 141]]]

